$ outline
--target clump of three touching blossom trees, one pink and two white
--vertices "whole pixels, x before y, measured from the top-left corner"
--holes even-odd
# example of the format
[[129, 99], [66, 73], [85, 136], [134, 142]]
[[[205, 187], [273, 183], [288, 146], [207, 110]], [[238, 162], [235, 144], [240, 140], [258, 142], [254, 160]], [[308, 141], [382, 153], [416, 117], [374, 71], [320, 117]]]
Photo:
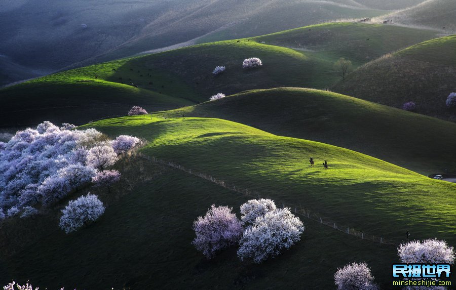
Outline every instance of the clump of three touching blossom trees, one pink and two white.
[[238, 257], [261, 263], [275, 257], [300, 239], [302, 222], [289, 209], [276, 209], [270, 199], [249, 200], [241, 206], [242, 221], [231, 208], [212, 205], [195, 221], [193, 244], [208, 258], [239, 241]]

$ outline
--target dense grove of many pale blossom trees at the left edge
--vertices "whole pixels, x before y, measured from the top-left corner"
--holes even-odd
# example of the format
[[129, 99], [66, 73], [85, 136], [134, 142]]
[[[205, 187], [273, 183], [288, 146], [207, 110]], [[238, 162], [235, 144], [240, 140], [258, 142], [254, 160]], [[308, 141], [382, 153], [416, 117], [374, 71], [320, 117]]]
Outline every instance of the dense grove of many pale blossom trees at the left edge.
[[118, 160], [116, 151], [127, 152], [139, 142], [131, 136], [120, 136], [112, 143], [105, 139], [94, 129], [77, 130], [70, 124], [59, 128], [46, 121], [0, 142], [2, 215], [36, 214], [33, 206], [48, 206], [90, 184]]

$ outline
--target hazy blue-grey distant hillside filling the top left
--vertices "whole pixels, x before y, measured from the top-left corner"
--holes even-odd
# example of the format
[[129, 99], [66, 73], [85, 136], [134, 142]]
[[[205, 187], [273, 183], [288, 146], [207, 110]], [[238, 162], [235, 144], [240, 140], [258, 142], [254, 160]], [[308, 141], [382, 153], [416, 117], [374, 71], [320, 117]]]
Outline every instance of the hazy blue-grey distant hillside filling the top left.
[[[352, 0], [3, 1], [0, 52], [30, 71], [55, 71], [193, 42], [210, 33], [214, 40], [239, 38], [387, 13], [380, 9]], [[30, 71], [23, 76], [7, 71], [0, 86]]]

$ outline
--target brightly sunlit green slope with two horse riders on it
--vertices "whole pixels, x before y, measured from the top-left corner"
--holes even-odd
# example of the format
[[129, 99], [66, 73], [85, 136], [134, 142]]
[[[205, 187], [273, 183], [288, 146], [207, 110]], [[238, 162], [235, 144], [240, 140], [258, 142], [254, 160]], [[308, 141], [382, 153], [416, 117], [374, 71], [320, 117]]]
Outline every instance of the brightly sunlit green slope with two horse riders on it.
[[[306, 208], [341, 224], [401, 239], [454, 242], [456, 185], [436, 181], [391, 163], [331, 145], [279, 137], [213, 118], [150, 116], [101, 120], [90, 125], [108, 135], [149, 140], [142, 152], [175, 161]], [[309, 168], [309, 157], [316, 167]], [[327, 160], [330, 170], [324, 171]]]

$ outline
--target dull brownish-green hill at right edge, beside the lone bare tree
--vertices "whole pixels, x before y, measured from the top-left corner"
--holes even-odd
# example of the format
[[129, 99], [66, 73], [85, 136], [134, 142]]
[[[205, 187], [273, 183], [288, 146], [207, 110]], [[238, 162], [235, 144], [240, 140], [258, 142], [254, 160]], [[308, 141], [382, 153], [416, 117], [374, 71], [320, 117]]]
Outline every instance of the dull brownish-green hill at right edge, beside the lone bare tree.
[[412, 46], [360, 67], [333, 90], [398, 108], [413, 101], [419, 113], [454, 121], [445, 101], [456, 91], [455, 46], [455, 35]]

